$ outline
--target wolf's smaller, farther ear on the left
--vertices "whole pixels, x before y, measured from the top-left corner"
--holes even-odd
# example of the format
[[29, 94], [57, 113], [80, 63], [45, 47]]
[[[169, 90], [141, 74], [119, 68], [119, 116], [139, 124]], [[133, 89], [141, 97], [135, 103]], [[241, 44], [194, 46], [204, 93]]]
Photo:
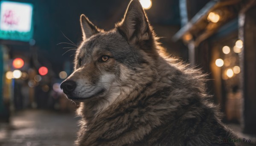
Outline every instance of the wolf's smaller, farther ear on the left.
[[83, 33], [83, 40], [101, 31], [96, 26], [94, 26], [93, 23], [90, 22], [90, 20], [84, 14], [81, 14], [80, 16], [80, 25]]

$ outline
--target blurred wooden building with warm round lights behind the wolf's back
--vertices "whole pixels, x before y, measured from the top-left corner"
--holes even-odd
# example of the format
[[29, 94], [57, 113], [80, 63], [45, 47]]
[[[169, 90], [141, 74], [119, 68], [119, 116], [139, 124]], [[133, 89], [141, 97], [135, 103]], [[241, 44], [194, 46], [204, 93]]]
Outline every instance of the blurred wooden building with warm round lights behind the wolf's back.
[[209, 73], [209, 92], [228, 123], [256, 134], [256, 0], [180, 0], [189, 62]]

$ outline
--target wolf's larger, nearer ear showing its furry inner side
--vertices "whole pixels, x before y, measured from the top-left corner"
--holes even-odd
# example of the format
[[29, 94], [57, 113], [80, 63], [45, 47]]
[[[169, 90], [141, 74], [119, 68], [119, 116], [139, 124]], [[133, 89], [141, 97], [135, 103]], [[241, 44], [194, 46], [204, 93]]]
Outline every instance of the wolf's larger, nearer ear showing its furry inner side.
[[148, 18], [139, 0], [131, 0], [123, 20], [116, 27], [132, 43], [149, 40], [152, 36]]

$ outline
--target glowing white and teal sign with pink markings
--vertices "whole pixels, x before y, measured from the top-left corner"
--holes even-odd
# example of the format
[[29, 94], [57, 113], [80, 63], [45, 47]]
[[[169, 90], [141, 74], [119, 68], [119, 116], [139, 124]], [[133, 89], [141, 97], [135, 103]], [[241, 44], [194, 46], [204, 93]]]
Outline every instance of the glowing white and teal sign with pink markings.
[[33, 31], [32, 12], [32, 4], [1, 1], [0, 38], [29, 41]]

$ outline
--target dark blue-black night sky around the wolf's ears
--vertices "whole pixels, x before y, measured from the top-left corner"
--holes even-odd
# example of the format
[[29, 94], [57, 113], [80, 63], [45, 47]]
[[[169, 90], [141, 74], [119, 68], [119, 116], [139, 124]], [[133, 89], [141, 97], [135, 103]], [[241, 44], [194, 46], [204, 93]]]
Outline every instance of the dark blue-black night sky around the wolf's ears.
[[[64, 60], [72, 62], [70, 51], [62, 56], [69, 42], [61, 31], [74, 43], [81, 41], [79, 17], [85, 14], [99, 28], [109, 30], [121, 20], [129, 0], [17, 0], [34, 5], [34, 39], [38, 47], [38, 58], [42, 65], [51, 64], [61, 71]], [[151, 24], [179, 26], [178, 0], [152, 0], [151, 9], [146, 10]], [[171, 38], [170, 38], [171, 39]], [[70, 42], [69, 42], [70, 43]]]

